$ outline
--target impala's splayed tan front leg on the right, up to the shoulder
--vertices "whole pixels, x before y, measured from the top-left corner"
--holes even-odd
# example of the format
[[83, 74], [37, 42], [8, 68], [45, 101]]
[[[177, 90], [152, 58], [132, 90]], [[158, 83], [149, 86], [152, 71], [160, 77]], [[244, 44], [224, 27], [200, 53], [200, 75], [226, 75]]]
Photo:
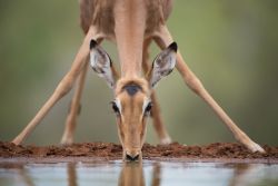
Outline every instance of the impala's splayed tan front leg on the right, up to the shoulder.
[[[169, 43], [172, 42], [172, 37], [168, 31], [166, 26], [162, 26], [159, 32], [155, 38], [158, 46], [165, 49]], [[179, 74], [183, 78], [187, 86], [196, 92], [199, 97], [201, 97], [216, 112], [216, 115], [224, 121], [224, 124], [229, 128], [229, 130], [234, 134], [235, 138], [244, 144], [251, 151], [260, 151], [265, 153], [265, 150], [256, 143], [254, 143], [232, 120], [231, 118], [224, 111], [224, 109], [216, 102], [216, 100], [209, 95], [209, 92], [205, 89], [201, 81], [196, 77], [196, 75], [189, 69], [186, 65], [185, 60], [180, 52], [177, 53], [177, 65], [176, 65]]]

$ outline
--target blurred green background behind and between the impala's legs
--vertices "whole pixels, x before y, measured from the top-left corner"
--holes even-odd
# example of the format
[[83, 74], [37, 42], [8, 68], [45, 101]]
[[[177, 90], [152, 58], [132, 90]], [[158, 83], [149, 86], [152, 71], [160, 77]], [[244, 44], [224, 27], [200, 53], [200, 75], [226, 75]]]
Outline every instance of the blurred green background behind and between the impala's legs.
[[[230, 117], [259, 144], [278, 144], [278, 1], [179, 0], [168, 20], [187, 63]], [[77, 0], [0, 1], [0, 140], [30, 121], [69, 70], [82, 41]], [[116, 46], [103, 47], [118, 61]], [[151, 57], [159, 52], [151, 46]], [[173, 140], [234, 141], [210, 108], [175, 70], [157, 87]], [[60, 141], [72, 91], [26, 144]], [[118, 143], [112, 92], [87, 76], [76, 141]], [[149, 121], [148, 143], [157, 143]]]

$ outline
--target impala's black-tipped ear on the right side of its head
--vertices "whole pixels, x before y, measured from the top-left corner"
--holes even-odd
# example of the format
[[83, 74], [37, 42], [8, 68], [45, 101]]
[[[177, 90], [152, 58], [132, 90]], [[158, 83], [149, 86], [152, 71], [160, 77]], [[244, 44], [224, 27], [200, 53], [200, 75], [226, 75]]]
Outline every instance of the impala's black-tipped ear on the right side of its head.
[[169, 75], [173, 70], [177, 50], [177, 43], [172, 42], [156, 57], [152, 67], [147, 75], [151, 88], [153, 88], [162, 77]]

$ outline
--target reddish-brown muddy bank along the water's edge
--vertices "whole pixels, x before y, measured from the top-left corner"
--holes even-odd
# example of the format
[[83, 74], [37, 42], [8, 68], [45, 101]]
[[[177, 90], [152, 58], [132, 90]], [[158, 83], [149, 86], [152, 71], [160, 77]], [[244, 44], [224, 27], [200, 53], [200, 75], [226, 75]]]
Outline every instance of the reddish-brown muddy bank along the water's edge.
[[[170, 145], [148, 145], [142, 148], [143, 158], [175, 159], [266, 159], [278, 160], [278, 147], [262, 146], [266, 154], [250, 153], [240, 144], [216, 143], [206, 146], [183, 146], [178, 143]], [[82, 143], [70, 146], [16, 146], [0, 141], [1, 158], [66, 158], [95, 157], [120, 159], [122, 148], [111, 143]]]

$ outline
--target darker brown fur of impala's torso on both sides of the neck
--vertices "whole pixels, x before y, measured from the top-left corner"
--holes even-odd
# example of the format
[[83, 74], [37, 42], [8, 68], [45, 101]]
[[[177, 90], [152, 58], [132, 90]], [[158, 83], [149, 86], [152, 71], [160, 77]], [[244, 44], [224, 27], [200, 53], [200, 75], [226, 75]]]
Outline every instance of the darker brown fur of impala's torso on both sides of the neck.
[[[98, 31], [115, 36], [113, 9], [117, 0], [79, 0], [80, 26], [85, 33], [91, 25], [99, 28]], [[163, 23], [172, 8], [172, 0], [142, 0], [147, 9], [147, 27], [145, 32], [149, 35], [156, 30], [159, 23]]]

